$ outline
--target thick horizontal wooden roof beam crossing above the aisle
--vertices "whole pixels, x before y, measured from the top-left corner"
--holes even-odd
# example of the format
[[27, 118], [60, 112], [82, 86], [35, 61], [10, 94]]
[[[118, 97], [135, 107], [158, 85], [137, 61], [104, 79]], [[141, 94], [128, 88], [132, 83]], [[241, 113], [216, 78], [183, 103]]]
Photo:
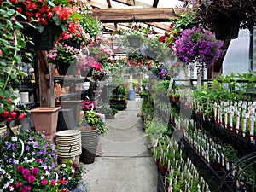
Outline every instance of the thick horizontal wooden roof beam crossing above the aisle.
[[[92, 15], [102, 23], [108, 22], [168, 22], [177, 17], [172, 8], [147, 9], [92, 9]], [[175, 9], [179, 13], [183, 9]]]

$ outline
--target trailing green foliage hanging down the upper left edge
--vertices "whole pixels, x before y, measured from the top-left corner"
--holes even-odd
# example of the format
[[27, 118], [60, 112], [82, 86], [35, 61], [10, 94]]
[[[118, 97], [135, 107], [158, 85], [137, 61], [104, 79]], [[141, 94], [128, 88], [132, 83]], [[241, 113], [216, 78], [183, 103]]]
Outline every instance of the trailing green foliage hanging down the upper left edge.
[[[26, 46], [25, 38], [20, 32], [23, 26], [17, 18], [23, 17], [15, 6], [9, 1], [1, 2], [0, 9], [0, 103], [3, 103], [3, 108], [0, 108], [0, 113], [4, 110], [18, 110], [15, 108], [15, 99], [13, 95], [13, 87], [10, 82], [20, 84], [19, 77], [25, 77], [26, 73], [21, 71], [18, 66], [22, 65], [21, 49]], [[15, 20], [15, 21], [14, 21]], [[25, 51], [26, 52], [26, 51]], [[25, 53], [31, 57], [29, 53]]]

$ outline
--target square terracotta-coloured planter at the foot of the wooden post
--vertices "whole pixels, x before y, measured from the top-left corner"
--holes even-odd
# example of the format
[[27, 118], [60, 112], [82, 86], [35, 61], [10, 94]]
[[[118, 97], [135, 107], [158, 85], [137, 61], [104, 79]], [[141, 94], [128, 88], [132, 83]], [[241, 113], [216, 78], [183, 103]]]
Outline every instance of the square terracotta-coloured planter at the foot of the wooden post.
[[52, 142], [55, 141], [59, 109], [61, 107], [38, 107], [30, 110], [36, 131], [44, 131]]

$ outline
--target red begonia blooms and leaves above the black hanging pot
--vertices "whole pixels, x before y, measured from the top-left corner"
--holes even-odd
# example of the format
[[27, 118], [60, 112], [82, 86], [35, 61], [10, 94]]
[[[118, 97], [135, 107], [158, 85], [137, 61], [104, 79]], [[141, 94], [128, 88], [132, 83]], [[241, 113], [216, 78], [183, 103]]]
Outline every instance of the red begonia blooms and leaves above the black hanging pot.
[[15, 4], [16, 9], [26, 16], [24, 22], [36, 26], [38, 32], [52, 30], [55, 32], [55, 37], [59, 37], [63, 31], [67, 31], [69, 22], [77, 17], [73, 15], [76, 8], [67, 1], [60, 3], [56, 0], [11, 0], [10, 2]]

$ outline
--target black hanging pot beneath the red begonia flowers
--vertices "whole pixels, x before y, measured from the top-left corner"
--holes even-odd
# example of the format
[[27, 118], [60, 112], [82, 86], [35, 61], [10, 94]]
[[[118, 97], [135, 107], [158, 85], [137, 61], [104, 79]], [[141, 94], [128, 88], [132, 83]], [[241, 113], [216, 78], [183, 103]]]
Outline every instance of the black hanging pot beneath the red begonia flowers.
[[32, 43], [26, 43], [27, 49], [33, 50], [51, 50], [54, 49], [55, 45], [55, 34], [44, 30], [42, 33], [38, 32], [37, 29], [32, 26], [24, 26], [23, 33], [28, 37], [32, 38]]

